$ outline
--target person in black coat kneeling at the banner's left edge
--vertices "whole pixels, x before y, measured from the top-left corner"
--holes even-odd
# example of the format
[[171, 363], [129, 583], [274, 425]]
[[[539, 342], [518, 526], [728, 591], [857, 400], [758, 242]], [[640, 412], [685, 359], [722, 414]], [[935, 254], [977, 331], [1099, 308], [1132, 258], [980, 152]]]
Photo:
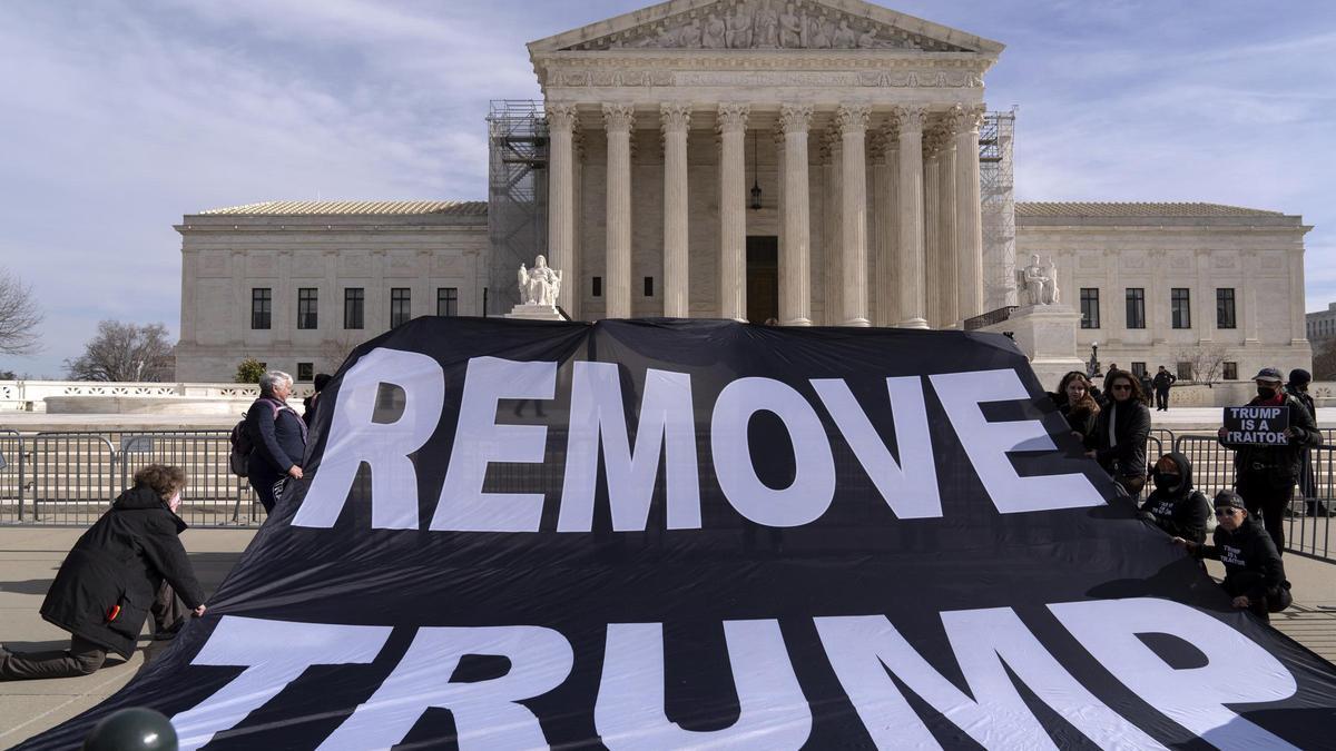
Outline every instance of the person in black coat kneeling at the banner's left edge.
[[174, 633], [187, 613], [204, 615], [204, 591], [178, 537], [184, 486], [179, 466], [135, 473], [135, 486], [75, 543], [41, 603], [41, 617], [71, 633], [69, 649], [0, 647], [0, 680], [90, 675], [107, 652], [128, 660], [150, 615], [155, 635]]

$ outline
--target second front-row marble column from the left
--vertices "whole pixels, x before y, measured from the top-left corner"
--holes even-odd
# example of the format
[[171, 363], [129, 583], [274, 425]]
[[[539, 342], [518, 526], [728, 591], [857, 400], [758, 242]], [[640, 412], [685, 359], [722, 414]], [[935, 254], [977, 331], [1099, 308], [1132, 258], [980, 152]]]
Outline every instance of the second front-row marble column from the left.
[[631, 318], [631, 128], [629, 104], [604, 104], [608, 132], [608, 278], [605, 318]]

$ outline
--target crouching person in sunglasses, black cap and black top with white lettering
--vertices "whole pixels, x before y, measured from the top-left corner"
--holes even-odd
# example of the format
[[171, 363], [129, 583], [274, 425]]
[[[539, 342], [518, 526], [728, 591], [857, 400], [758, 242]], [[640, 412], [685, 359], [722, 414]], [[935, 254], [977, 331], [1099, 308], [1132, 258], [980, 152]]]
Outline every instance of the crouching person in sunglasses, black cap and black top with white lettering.
[[1225, 580], [1220, 585], [1240, 609], [1248, 609], [1261, 620], [1279, 613], [1293, 603], [1285, 564], [1271, 535], [1248, 513], [1242, 497], [1233, 490], [1216, 493], [1216, 525], [1212, 545], [1202, 545], [1182, 537], [1172, 543], [1182, 547], [1193, 557], [1213, 559], [1225, 564]]

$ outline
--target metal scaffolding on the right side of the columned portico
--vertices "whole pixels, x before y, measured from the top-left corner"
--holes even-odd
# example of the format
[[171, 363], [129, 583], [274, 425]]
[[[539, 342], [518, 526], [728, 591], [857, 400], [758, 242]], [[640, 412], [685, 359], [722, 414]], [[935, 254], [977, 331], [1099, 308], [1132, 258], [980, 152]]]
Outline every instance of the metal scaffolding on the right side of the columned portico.
[[1015, 305], [1015, 107], [989, 112], [979, 128], [985, 310]]

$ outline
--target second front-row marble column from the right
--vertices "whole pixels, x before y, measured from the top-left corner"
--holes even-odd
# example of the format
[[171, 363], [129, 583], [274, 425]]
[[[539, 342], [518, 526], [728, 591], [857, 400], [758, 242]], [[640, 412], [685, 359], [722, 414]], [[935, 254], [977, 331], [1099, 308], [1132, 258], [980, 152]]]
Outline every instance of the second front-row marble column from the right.
[[927, 329], [923, 294], [923, 119], [922, 107], [896, 107], [899, 130], [899, 315], [898, 326]]

